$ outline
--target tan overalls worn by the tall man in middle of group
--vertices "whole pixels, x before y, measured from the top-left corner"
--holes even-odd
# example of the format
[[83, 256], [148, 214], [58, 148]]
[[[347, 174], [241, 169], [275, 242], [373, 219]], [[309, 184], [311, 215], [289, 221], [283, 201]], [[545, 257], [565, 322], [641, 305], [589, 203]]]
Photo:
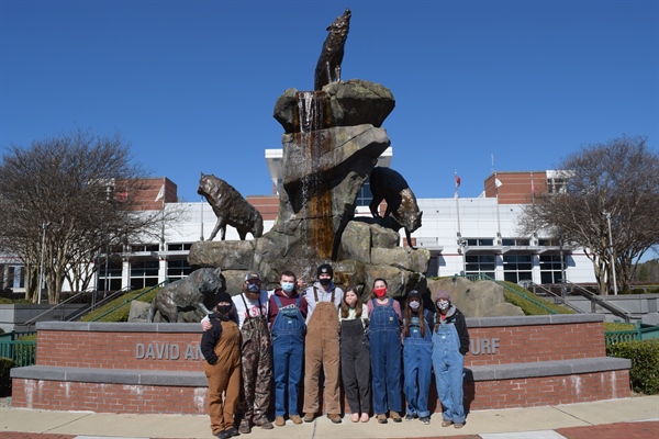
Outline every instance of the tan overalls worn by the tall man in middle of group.
[[334, 290], [330, 302], [319, 302], [316, 288], [313, 289], [313, 294], [316, 305], [309, 318], [304, 341], [304, 413], [315, 414], [320, 410], [319, 376], [323, 368], [327, 414], [338, 415], [340, 324], [334, 304]]

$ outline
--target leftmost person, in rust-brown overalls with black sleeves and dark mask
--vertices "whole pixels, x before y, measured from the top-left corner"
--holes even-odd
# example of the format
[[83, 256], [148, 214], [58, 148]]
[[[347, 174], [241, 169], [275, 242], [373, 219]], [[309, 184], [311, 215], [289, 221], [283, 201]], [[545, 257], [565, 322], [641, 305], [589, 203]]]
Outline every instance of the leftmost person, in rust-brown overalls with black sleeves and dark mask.
[[241, 395], [241, 333], [231, 309], [231, 295], [219, 293], [216, 312], [209, 315], [212, 327], [202, 334], [200, 345], [206, 360], [211, 430], [219, 439], [239, 435], [234, 413]]

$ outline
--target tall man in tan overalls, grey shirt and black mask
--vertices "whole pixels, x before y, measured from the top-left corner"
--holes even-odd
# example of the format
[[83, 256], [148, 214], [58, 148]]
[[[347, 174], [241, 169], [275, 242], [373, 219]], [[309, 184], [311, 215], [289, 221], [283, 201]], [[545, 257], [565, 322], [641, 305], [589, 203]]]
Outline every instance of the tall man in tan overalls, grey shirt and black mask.
[[334, 285], [332, 266], [319, 267], [319, 280], [304, 292], [309, 304], [304, 339], [304, 421], [312, 423], [320, 412], [319, 381], [325, 373], [325, 406], [327, 417], [340, 423], [339, 333], [338, 307], [344, 292]]

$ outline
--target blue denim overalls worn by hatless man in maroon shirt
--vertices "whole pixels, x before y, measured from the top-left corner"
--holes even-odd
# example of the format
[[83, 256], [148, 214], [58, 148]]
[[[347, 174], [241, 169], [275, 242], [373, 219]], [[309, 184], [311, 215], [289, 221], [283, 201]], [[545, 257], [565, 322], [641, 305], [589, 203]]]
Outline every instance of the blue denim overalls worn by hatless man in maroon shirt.
[[273, 295], [279, 312], [272, 323], [272, 362], [275, 369], [275, 416], [298, 415], [298, 392], [304, 359], [304, 317], [300, 313], [300, 296], [294, 305], [281, 306]]

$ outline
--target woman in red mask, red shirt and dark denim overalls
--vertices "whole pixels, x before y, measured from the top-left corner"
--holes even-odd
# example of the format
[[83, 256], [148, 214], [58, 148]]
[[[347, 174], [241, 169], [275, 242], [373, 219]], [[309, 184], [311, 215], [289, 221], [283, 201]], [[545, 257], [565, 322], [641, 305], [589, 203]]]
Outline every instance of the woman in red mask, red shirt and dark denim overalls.
[[387, 412], [394, 423], [402, 420], [401, 389], [401, 306], [387, 297], [387, 281], [376, 279], [373, 299], [368, 301], [373, 409], [378, 423], [387, 424]]

